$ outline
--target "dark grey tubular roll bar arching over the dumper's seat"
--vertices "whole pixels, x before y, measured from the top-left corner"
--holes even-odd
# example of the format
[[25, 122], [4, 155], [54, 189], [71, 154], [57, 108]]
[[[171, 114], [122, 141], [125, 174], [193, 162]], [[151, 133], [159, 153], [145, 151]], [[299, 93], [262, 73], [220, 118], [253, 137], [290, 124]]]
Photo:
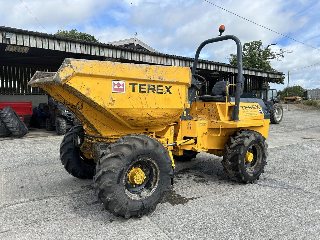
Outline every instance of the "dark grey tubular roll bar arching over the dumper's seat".
[[211, 38], [208, 40], [205, 40], [202, 44], [199, 45], [197, 51], [195, 60], [192, 65], [191, 74], [196, 73], [196, 67], [199, 60], [199, 54], [203, 47], [209, 43], [215, 43], [220, 42], [224, 40], [233, 40], [236, 42], [237, 45], [237, 62], [238, 62], [238, 76], [237, 76], [237, 82], [236, 82], [236, 96], [235, 96], [235, 106], [233, 107], [232, 112], [232, 121], [239, 121], [239, 105], [240, 105], [240, 95], [243, 92], [244, 89], [244, 76], [243, 76], [243, 70], [242, 70], [242, 46], [239, 38], [237, 38], [234, 35], [226, 35], [226, 36], [220, 36]]

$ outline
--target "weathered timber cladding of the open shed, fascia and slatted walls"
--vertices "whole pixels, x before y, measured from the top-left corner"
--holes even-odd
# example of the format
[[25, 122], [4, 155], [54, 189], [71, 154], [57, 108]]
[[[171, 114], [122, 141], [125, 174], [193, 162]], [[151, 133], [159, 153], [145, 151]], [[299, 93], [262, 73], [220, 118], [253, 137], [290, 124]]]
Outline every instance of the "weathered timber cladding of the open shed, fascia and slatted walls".
[[[4, 38], [6, 32], [12, 38]], [[0, 26], [0, 94], [45, 94], [41, 89], [28, 86], [35, 71], [57, 71], [65, 58], [108, 60], [192, 67], [193, 58], [149, 52], [103, 43], [86, 42], [28, 30]], [[199, 60], [197, 69], [206, 72], [207, 83], [200, 90], [210, 94], [217, 81], [236, 82], [237, 66], [208, 60]], [[214, 72], [219, 77], [212, 77]], [[244, 67], [245, 88], [262, 87], [263, 82], [282, 78], [281, 72]], [[230, 87], [233, 92], [233, 87]]]

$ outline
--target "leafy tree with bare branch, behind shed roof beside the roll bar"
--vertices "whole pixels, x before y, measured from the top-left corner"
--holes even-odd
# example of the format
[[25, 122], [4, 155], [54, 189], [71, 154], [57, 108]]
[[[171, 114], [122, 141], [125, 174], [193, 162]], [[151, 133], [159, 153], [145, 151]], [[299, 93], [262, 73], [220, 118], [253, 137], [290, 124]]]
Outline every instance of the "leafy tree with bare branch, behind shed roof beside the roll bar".
[[[284, 58], [284, 53], [291, 53], [293, 51], [288, 51], [285, 48], [279, 48], [276, 51], [272, 51], [270, 46], [279, 45], [279, 43], [269, 44], [267, 47], [263, 48], [261, 40], [252, 41], [250, 43], [245, 43], [242, 46], [242, 62], [244, 67], [259, 68], [268, 71], [274, 71], [275, 69], [271, 67], [271, 59], [276, 59], [282, 61]], [[279, 45], [280, 46], [280, 45]], [[237, 65], [237, 55], [231, 53], [227, 57], [231, 64]], [[284, 84], [284, 77], [282, 79], [273, 78], [270, 82], [276, 84]]]

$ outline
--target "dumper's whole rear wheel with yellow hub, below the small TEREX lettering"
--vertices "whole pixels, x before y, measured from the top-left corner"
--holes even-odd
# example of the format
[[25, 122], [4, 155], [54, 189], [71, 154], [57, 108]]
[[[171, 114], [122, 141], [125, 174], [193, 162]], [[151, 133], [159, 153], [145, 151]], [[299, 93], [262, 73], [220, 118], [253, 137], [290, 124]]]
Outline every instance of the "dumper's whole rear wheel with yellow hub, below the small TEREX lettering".
[[222, 152], [223, 171], [237, 182], [253, 183], [260, 178], [267, 164], [268, 144], [259, 132], [236, 131], [225, 143]]

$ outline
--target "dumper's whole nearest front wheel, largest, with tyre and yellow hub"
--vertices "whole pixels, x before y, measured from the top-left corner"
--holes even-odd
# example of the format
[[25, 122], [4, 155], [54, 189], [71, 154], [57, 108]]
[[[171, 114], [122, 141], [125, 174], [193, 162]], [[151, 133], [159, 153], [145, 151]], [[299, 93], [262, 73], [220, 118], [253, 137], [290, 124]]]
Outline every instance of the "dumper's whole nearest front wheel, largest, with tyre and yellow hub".
[[94, 187], [106, 210], [140, 218], [163, 203], [172, 178], [172, 161], [164, 146], [147, 135], [135, 134], [105, 150], [97, 163]]

